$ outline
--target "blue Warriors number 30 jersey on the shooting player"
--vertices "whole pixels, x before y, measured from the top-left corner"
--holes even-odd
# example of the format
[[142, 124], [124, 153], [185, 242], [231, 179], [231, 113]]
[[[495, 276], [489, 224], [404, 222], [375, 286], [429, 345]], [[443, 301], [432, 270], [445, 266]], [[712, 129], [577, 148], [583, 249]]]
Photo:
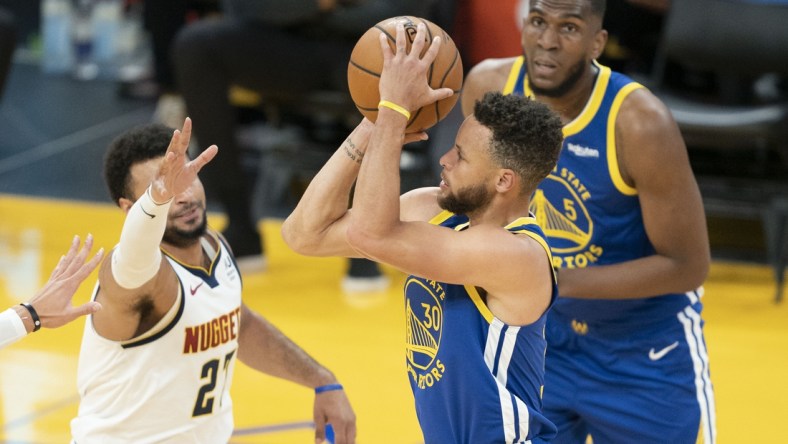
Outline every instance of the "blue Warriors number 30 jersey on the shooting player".
[[[431, 223], [459, 231], [468, 218], [444, 211]], [[533, 217], [506, 229], [534, 238], [549, 257]], [[556, 295], [554, 283], [551, 304]], [[541, 413], [547, 310], [530, 325], [507, 325], [475, 287], [417, 276], [405, 283], [405, 310], [408, 374], [427, 444], [537, 443], [555, 434]]]

